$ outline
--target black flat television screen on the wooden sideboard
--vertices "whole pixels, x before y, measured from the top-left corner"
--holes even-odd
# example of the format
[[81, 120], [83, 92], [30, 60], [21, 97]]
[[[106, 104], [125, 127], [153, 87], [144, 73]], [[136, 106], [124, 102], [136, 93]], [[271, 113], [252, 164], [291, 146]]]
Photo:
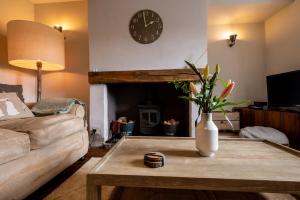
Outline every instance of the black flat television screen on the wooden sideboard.
[[267, 88], [269, 106], [300, 106], [300, 70], [267, 76]]

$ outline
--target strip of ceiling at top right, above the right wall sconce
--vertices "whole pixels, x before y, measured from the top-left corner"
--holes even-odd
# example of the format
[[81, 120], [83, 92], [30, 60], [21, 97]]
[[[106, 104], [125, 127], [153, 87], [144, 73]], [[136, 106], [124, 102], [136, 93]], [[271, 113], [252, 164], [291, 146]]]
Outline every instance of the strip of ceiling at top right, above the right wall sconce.
[[294, 0], [209, 0], [208, 24], [264, 22]]

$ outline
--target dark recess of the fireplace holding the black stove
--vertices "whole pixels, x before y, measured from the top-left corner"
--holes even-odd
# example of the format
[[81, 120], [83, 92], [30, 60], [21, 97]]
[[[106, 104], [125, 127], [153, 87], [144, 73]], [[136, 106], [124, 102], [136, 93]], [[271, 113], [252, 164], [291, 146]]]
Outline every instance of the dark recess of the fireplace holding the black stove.
[[175, 136], [189, 136], [189, 103], [170, 83], [107, 84], [108, 121], [126, 117], [135, 122], [133, 135], [165, 136], [163, 123], [179, 122]]

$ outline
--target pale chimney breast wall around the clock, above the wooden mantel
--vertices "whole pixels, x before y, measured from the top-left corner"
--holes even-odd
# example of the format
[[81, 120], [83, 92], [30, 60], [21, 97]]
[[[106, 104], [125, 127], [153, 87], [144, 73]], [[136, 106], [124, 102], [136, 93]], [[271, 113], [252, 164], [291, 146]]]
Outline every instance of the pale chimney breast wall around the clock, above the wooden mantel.
[[[141, 9], [152, 9], [163, 21], [160, 38], [152, 44], [135, 42], [129, 21]], [[90, 0], [90, 70], [167, 69], [184, 67], [207, 47], [206, 0]], [[203, 65], [206, 56], [203, 57]]]

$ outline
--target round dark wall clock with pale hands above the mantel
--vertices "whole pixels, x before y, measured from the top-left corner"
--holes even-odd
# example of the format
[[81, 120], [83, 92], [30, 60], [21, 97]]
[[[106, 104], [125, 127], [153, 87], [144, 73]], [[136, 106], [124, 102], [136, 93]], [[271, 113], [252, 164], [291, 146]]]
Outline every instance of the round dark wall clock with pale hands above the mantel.
[[141, 10], [130, 20], [129, 31], [132, 38], [141, 43], [149, 44], [159, 38], [163, 30], [160, 16], [152, 10]]

